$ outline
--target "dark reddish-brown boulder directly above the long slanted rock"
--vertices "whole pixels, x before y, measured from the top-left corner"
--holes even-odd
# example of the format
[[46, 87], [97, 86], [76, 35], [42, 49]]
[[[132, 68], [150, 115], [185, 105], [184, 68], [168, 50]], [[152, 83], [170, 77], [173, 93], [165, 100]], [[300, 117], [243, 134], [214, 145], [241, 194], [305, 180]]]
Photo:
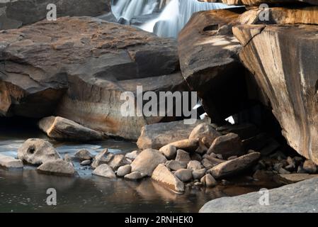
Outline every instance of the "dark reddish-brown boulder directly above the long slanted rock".
[[235, 133], [229, 133], [227, 135], [222, 135], [213, 141], [207, 154], [215, 153], [216, 155], [222, 155], [222, 158], [227, 159], [233, 155], [243, 154], [242, 141], [239, 135]]

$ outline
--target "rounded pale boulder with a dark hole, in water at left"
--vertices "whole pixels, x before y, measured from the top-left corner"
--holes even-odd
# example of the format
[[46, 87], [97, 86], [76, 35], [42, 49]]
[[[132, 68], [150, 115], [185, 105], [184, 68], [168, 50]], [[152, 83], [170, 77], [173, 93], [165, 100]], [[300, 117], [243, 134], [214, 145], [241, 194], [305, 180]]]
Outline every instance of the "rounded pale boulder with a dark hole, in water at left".
[[60, 158], [51, 143], [38, 138], [30, 138], [18, 148], [18, 159], [31, 165], [41, 165]]

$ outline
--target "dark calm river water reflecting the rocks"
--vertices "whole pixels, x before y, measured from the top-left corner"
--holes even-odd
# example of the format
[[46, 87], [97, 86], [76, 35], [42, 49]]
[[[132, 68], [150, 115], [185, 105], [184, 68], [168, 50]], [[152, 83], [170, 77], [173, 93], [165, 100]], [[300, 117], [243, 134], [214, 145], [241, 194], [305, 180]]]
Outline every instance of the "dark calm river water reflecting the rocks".
[[[46, 138], [40, 131], [0, 124], [0, 153], [16, 157], [18, 147], [27, 138]], [[2, 126], [2, 127], [1, 127]], [[86, 148], [94, 155], [103, 148], [113, 153], [135, 150], [135, 143], [107, 140], [94, 144], [58, 143], [50, 140], [64, 156]], [[40, 174], [35, 167], [7, 171], [0, 169], [0, 212], [198, 212], [205, 202], [221, 196], [235, 196], [276, 185], [250, 179], [232, 179], [233, 184], [213, 189], [192, 188], [185, 194], [174, 192], [151, 179], [130, 182], [91, 175], [89, 167], [74, 162], [77, 177]], [[57, 191], [57, 206], [46, 204], [47, 189]], [[256, 201], [257, 202], [257, 201]]]

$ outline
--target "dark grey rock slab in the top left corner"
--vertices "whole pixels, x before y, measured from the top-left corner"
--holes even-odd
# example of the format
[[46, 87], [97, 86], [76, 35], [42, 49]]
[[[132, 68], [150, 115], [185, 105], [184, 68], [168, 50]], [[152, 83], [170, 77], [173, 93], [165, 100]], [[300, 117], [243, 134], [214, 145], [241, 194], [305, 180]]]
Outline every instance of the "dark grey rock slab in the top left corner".
[[18, 28], [46, 18], [48, 4], [57, 16], [98, 16], [110, 11], [110, 0], [16, 0], [1, 1], [0, 30]]

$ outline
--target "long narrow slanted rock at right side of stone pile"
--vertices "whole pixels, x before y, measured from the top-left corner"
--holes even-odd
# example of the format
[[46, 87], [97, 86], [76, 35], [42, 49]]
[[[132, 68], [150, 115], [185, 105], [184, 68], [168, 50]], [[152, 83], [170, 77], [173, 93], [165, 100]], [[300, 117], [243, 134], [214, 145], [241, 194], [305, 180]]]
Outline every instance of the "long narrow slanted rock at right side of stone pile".
[[227, 177], [230, 175], [235, 175], [240, 171], [246, 170], [247, 168], [251, 167], [251, 165], [253, 165], [254, 162], [259, 160], [260, 156], [260, 153], [251, 153], [248, 155], [243, 155], [241, 157], [238, 157], [237, 159], [222, 162], [221, 164], [212, 167], [212, 169], [209, 171], [211, 175], [216, 179]]

